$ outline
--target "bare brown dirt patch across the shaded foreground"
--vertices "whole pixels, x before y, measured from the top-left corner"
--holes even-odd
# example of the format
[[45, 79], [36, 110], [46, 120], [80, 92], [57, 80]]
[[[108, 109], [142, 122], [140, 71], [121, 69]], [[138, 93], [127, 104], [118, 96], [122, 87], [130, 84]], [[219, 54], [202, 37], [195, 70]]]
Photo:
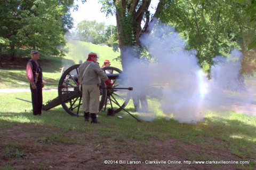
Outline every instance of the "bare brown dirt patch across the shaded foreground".
[[[152, 138], [148, 142], [132, 139], [116, 141], [114, 137], [101, 141], [95, 140], [99, 137], [95, 134], [68, 131], [66, 137], [70, 140], [65, 143], [63, 140], [58, 142], [56, 134], [54, 128], [25, 124], [1, 131], [0, 167], [8, 165], [17, 169], [237, 169], [236, 165], [232, 164], [189, 165], [184, 161], [193, 159], [191, 155], [207, 155], [218, 160], [240, 160], [229, 151], [204, 148], [172, 137], [165, 140]], [[51, 140], [53, 138], [54, 140]], [[70, 143], [73, 139], [78, 142]], [[22, 156], [15, 157], [7, 153], [6, 148], [12, 148], [11, 146], [21, 152]], [[105, 164], [106, 160], [109, 164]], [[156, 161], [160, 164], [150, 164]]]

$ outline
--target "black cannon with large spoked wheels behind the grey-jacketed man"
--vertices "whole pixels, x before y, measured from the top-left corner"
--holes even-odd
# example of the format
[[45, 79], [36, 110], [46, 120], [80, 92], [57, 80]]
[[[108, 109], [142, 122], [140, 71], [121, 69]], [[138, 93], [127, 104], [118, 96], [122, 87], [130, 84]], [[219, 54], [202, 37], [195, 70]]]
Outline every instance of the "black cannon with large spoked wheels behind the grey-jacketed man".
[[[84, 116], [82, 109], [82, 92], [78, 87], [78, 67], [80, 64], [69, 67], [61, 71], [62, 75], [58, 85], [58, 96], [53, 100], [47, 101], [42, 110], [49, 110], [61, 104], [62, 108], [71, 116]], [[122, 70], [115, 67], [104, 67], [102, 70], [113, 82], [113, 88], [107, 88], [106, 84], [101, 81], [100, 91], [100, 111], [110, 109], [115, 113], [124, 110], [134, 117], [125, 106], [131, 98], [132, 87], [125, 87], [125, 81], [121, 78]], [[137, 119], [140, 122], [139, 119]]]

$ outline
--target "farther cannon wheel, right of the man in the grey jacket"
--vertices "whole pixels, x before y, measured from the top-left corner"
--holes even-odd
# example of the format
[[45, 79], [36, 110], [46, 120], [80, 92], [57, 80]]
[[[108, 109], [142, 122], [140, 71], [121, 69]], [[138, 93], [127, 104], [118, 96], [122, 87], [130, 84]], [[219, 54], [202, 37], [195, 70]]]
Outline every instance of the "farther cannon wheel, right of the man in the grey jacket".
[[[108, 74], [121, 74], [123, 71], [116, 67], [103, 67], [102, 70]], [[111, 78], [109, 79], [113, 82], [113, 87], [124, 87], [127, 84], [124, 84], [124, 79], [122, 77]], [[127, 82], [126, 82], [127, 83]], [[102, 84], [102, 83], [101, 83]], [[104, 83], [105, 84], [105, 83]], [[103, 111], [106, 111], [106, 108], [115, 109], [115, 112], [121, 111], [128, 104], [131, 98], [131, 92], [128, 90], [107, 90], [107, 100], [105, 102], [105, 107]], [[120, 107], [121, 106], [121, 107]]]

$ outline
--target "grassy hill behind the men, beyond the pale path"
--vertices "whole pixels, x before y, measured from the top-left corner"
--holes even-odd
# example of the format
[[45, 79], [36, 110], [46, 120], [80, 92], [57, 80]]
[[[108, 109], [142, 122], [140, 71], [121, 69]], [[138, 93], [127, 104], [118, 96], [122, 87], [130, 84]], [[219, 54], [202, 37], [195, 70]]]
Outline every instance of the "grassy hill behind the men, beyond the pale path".
[[[75, 40], [69, 41], [66, 47], [68, 53], [63, 58], [41, 54], [39, 61], [42, 64], [45, 88], [57, 88], [62, 67], [67, 69], [74, 64], [78, 64], [79, 60], [86, 61], [90, 52], [99, 55], [100, 67], [103, 61], [107, 59], [111, 62], [111, 66], [122, 69], [121, 62], [115, 60], [120, 53], [114, 52], [112, 47]], [[17, 58], [14, 62], [8, 61], [10, 66], [6, 65], [0, 71], [0, 88], [29, 88], [26, 77], [26, 64], [29, 59], [30, 55], [28, 53], [26, 56]]]

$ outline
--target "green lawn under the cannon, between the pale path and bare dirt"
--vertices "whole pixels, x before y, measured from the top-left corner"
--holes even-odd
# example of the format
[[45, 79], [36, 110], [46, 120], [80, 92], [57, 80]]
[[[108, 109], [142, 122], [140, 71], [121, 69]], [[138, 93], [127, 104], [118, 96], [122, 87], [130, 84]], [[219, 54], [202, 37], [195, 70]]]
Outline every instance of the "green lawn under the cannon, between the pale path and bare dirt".
[[[44, 103], [57, 95], [57, 92], [44, 91]], [[31, 112], [31, 103], [17, 100], [15, 97], [27, 100], [31, 98], [30, 92], [2, 93], [0, 96], [0, 119], [3, 120], [0, 125], [1, 128], [4, 128], [5, 125], [10, 125], [10, 123], [13, 123], [13, 125], [15, 123], [31, 123], [47, 126], [54, 125], [61, 129], [75, 129], [79, 132], [90, 129], [83, 128], [82, 119], [68, 115], [61, 106], [49, 111], [43, 111], [44, 116], [34, 117]], [[149, 102], [151, 102], [151, 99], [149, 99]], [[132, 102], [126, 106], [126, 109], [132, 112]], [[138, 113], [132, 112], [132, 114], [137, 115]], [[205, 143], [205, 140], [212, 142], [215, 139], [220, 139], [221, 141], [232, 143], [229, 147], [234, 150], [238, 146], [239, 149], [251, 148], [250, 144], [256, 142], [256, 118], [236, 112], [229, 112], [225, 117], [221, 117], [219, 116], [221, 115], [220, 112], [209, 111], [205, 120], [197, 124], [180, 124], [172, 119], [166, 121], [162, 117], [157, 117], [153, 122], [138, 124], [134, 118], [124, 111], [120, 115], [124, 118], [108, 117], [106, 112], [102, 112], [99, 114], [99, 118], [106, 124], [95, 128], [102, 133], [108, 132], [110, 133], [109, 135], [116, 133], [116, 139], [131, 138], [144, 141], [150, 137], [165, 139], [167, 136], [173, 136], [181, 141], [193, 143]], [[117, 127], [118, 129], [116, 129]], [[202, 137], [205, 137], [203, 141]], [[241, 141], [243, 141], [242, 145]], [[219, 145], [217, 144], [215, 147], [218, 148]], [[252, 149], [252, 153], [253, 151], [256, 150]]]

